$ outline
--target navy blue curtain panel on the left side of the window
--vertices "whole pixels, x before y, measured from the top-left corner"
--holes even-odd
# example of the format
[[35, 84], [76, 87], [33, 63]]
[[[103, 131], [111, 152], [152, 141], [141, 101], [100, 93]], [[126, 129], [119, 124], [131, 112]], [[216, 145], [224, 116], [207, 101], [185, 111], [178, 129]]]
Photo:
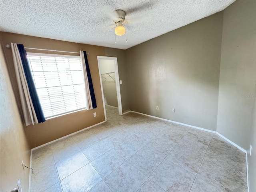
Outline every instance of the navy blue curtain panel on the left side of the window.
[[26, 80], [28, 83], [28, 89], [30, 92], [32, 103], [33, 103], [33, 106], [34, 106], [34, 109], [36, 112], [36, 117], [37, 117], [38, 123], [42, 123], [45, 121], [44, 113], [43, 113], [42, 106], [41, 106], [39, 98], [38, 98], [38, 94], [36, 92], [36, 86], [34, 84], [34, 80], [33, 80], [31, 71], [29, 68], [27, 53], [22, 44], [17, 44], [17, 46], [18, 46], [18, 49], [20, 52], [20, 57], [21, 57], [22, 65], [23, 65], [24, 72], [26, 75]]

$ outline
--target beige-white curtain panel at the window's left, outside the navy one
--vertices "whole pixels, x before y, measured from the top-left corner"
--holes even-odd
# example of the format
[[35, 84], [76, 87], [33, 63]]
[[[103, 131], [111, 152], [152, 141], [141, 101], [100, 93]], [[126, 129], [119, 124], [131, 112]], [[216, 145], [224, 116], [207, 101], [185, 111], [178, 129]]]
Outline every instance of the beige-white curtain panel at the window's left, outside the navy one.
[[20, 52], [16, 43], [11, 43], [11, 47], [25, 124], [34, 125], [34, 123], [38, 123], [38, 119], [36, 117], [36, 112], [29, 93], [28, 83], [26, 80], [26, 75], [24, 73]]

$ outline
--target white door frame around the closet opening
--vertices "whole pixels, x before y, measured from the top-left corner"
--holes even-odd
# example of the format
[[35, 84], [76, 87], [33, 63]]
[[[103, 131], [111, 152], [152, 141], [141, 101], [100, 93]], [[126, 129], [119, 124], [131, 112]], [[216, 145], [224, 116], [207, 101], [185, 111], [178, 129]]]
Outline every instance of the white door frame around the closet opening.
[[103, 86], [102, 86], [102, 78], [101, 78], [101, 73], [100, 73], [100, 60], [113, 60], [114, 61], [118, 113], [119, 113], [119, 115], [122, 115], [123, 112], [122, 112], [121, 91], [120, 91], [120, 84], [119, 84], [118, 64], [117, 64], [117, 58], [116, 57], [97, 56], [97, 59], [98, 59], [98, 68], [99, 68], [99, 75], [100, 75], [100, 86], [101, 86], [101, 92], [102, 92], [102, 100], [103, 100], [103, 105], [104, 105], [104, 114], [105, 114], [105, 119], [107, 120], [104, 93], [103, 93]]

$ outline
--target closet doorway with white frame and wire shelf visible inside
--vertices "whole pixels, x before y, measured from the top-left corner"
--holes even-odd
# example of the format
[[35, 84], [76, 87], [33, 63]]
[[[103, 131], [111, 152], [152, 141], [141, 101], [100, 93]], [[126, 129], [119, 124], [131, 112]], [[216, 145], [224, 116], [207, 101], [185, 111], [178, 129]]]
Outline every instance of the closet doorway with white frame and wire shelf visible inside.
[[105, 104], [118, 107], [118, 113], [122, 115], [118, 64], [116, 57], [97, 56], [97, 58], [104, 113], [105, 119], [107, 120]]

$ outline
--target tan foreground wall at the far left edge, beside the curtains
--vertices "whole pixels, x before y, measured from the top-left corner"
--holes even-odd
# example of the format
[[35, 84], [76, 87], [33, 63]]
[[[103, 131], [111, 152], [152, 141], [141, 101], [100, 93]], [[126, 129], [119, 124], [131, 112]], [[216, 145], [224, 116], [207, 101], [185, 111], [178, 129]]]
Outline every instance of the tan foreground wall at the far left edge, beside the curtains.
[[28, 191], [29, 170], [23, 170], [22, 160], [30, 165], [30, 146], [11, 88], [6, 62], [0, 46], [0, 191], [10, 192], [21, 180]]

